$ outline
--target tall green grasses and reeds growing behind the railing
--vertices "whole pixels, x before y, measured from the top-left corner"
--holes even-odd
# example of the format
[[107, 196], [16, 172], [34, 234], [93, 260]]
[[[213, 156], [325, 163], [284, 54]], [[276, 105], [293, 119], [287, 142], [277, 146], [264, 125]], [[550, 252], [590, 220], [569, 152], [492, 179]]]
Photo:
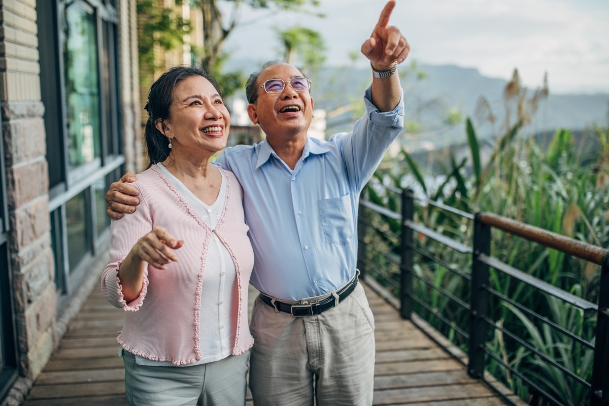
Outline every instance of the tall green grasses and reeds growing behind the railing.
[[[486, 157], [482, 156], [476, 129], [468, 119], [465, 131], [470, 156], [457, 160], [454, 155], [449, 155], [439, 183], [435, 181], [438, 175], [432, 177], [424, 173], [406, 150], [402, 150], [403, 156], [396, 159], [393, 165], [387, 166], [390, 169], [378, 171], [375, 177], [386, 185], [412, 187], [429, 200], [443, 201], [446, 205], [465, 212], [498, 212], [584, 242], [601, 247], [609, 246], [609, 181], [602, 180], [605, 172], [601, 170], [609, 165], [609, 155], [602, 148], [604, 144], [600, 142], [596, 163], [586, 166], [573, 147], [575, 140], [570, 131], [556, 131], [547, 149], [543, 151], [535, 139], [519, 137], [522, 125], [523, 122], [519, 121], [496, 139], [490, 156]], [[602, 129], [597, 129], [598, 133], [605, 134]], [[401, 166], [398, 164], [400, 162]], [[400, 167], [400, 170], [396, 170], [396, 167]], [[367, 187], [365, 193], [368, 194], [370, 189], [375, 189], [375, 200], [379, 205], [399, 206], [399, 195], [394, 192]], [[399, 207], [396, 211], [399, 212]], [[367, 216], [373, 217], [371, 214]], [[381, 230], [399, 233], [395, 225], [383, 223], [382, 216], [378, 216], [375, 223], [378, 228], [368, 233], [384, 232]], [[417, 205], [414, 216], [416, 222], [423, 223], [437, 233], [456, 239], [464, 245], [471, 245], [473, 230], [469, 220], [440, 211], [431, 205]], [[371, 238], [370, 244], [376, 245], [368, 245], [365, 252], [379, 250], [399, 256], [400, 249], [396, 243], [384, 241], [380, 236]], [[418, 298], [431, 307], [428, 310], [415, 304], [415, 312], [465, 349], [466, 339], [456, 327], [465, 328], [468, 325], [469, 313], [448, 296], [439, 293], [433, 285], [442, 287], [467, 303], [471, 295], [469, 283], [452, 270], [470, 273], [471, 256], [449, 250], [445, 245], [422, 234], [415, 234], [414, 243], [417, 249], [427, 251], [438, 260], [431, 261], [422, 255], [415, 257], [412, 289]], [[370, 247], [375, 248], [373, 250]], [[491, 253], [506, 264], [566, 292], [593, 303], [597, 300], [597, 265], [498, 230], [493, 230]], [[391, 266], [384, 268], [380, 262], [377, 264], [373, 271], [368, 270], [369, 273], [384, 280], [383, 284], [397, 293], [399, 269]], [[491, 289], [540, 313], [583, 340], [594, 341], [594, 312], [583, 312], [552, 296], [541, 295], [524, 282], [493, 268], [489, 273]], [[423, 278], [428, 283], [423, 282]], [[519, 373], [533, 379], [556, 399], [568, 405], [585, 404], [589, 396], [586, 388], [567, 377], [557, 365], [589, 382], [592, 351], [498, 296], [491, 295], [489, 300], [488, 318], [495, 321], [495, 326], [521, 337], [538, 353], [520, 345], [501, 329], [493, 330], [493, 334], [488, 337], [489, 351]], [[440, 317], [449, 320], [449, 323], [446, 324]], [[548, 363], [540, 354], [554, 360], [554, 363]], [[538, 391], [495, 359], [488, 359], [487, 368], [530, 404], [548, 404]]]

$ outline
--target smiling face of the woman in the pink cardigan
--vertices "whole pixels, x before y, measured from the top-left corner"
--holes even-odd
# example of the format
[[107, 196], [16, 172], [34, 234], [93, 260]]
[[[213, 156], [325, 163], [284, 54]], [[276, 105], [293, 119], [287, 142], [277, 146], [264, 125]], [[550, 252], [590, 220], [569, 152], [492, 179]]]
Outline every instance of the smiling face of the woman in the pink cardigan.
[[171, 118], [157, 128], [174, 153], [209, 158], [226, 147], [230, 114], [209, 80], [197, 75], [178, 83], [169, 110]]

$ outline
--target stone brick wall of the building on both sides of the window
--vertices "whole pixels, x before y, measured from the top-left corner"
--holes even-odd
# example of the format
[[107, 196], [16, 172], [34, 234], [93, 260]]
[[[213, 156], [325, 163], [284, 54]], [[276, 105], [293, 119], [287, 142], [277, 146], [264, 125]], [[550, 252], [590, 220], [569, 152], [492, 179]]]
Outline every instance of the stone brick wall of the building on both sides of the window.
[[[37, 1], [0, 0], [0, 124], [7, 176], [9, 272], [18, 350], [19, 378], [0, 406], [15, 406], [57, 348], [99, 273], [91, 272], [57, 318], [54, 253], [48, 209], [44, 105], [41, 101]], [[136, 1], [117, 1], [122, 153], [127, 170], [142, 169]], [[107, 253], [100, 253], [106, 258]], [[100, 264], [92, 264], [102, 269]]]

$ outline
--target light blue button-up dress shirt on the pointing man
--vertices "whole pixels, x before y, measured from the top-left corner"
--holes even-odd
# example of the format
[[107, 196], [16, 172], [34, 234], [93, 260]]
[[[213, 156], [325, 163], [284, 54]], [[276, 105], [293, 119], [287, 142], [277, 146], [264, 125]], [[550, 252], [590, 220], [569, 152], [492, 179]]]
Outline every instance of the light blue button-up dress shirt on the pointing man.
[[268, 142], [228, 148], [214, 163], [244, 191], [254, 269], [250, 282], [277, 299], [333, 292], [353, 278], [359, 194], [404, 125], [404, 100], [381, 113], [370, 101], [350, 133], [308, 138], [294, 170]]

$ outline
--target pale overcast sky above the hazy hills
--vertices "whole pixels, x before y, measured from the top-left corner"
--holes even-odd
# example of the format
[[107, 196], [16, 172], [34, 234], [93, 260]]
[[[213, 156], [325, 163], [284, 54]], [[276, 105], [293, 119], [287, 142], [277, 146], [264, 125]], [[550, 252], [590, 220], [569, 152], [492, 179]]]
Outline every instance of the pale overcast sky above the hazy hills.
[[[273, 26], [300, 24], [322, 33], [329, 65], [346, 65], [385, 1], [321, 3], [324, 19], [294, 13], [269, 18], [268, 12], [244, 9], [246, 24], [231, 33], [226, 49], [234, 57], [277, 57]], [[397, 0], [389, 24], [404, 33], [409, 58], [419, 63], [477, 68], [503, 79], [518, 68], [531, 87], [540, 86], [547, 72], [552, 93], [609, 93], [608, 0]]]

